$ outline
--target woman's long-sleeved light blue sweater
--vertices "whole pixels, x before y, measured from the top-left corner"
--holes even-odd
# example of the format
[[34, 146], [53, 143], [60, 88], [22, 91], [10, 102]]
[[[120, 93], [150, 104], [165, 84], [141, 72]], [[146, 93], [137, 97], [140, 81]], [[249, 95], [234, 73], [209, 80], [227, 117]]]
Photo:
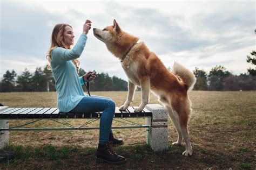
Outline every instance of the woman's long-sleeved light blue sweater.
[[76, 66], [71, 60], [82, 54], [86, 40], [86, 34], [82, 34], [72, 49], [57, 47], [51, 52], [51, 68], [61, 112], [71, 111], [85, 96], [82, 77], [78, 77]]

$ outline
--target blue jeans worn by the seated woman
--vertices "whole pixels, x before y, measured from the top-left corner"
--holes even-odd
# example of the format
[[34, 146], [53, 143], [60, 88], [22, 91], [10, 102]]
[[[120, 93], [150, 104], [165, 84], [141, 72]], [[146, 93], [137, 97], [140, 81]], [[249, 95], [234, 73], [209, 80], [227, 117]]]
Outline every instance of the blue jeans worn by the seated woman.
[[70, 112], [98, 112], [103, 111], [99, 121], [99, 144], [109, 142], [109, 133], [112, 132], [111, 125], [114, 117], [116, 105], [109, 97], [103, 96], [85, 96], [77, 106]]

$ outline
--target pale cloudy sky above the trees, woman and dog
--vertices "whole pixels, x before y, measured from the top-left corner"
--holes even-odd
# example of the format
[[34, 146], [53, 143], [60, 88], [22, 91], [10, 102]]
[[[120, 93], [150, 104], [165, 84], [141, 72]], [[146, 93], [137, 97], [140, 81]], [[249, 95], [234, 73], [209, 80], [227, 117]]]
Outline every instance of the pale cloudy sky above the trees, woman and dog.
[[[144, 41], [166, 67], [174, 61], [193, 70], [223, 65], [247, 72], [255, 50], [255, 1], [10, 1], [1, 0], [0, 77], [44, 67], [53, 26], [68, 23], [76, 40], [86, 19], [92, 27], [120, 27]], [[75, 42], [76, 42], [75, 40]], [[80, 67], [127, 80], [119, 60], [88, 34]]]

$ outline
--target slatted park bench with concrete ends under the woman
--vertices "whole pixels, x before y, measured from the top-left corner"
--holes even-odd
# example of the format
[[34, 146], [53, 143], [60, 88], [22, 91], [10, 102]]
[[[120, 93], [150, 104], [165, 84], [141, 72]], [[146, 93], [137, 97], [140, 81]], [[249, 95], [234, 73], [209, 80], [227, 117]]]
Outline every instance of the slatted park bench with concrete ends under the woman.
[[[142, 112], [134, 112], [133, 107], [126, 111], [119, 111], [116, 108], [114, 121], [129, 124], [129, 126], [112, 126], [112, 129], [131, 129], [146, 128], [147, 144], [154, 151], [163, 151], [168, 147], [168, 128], [167, 128], [167, 110], [159, 104], [148, 104]], [[9, 143], [9, 131], [28, 131], [28, 130], [89, 130], [99, 129], [99, 127], [90, 127], [90, 123], [97, 121], [102, 112], [96, 113], [63, 113], [58, 108], [8, 108], [0, 107], [0, 148]], [[145, 118], [145, 125], [137, 124], [129, 118]], [[28, 123], [9, 127], [9, 120], [27, 120]], [[50, 119], [64, 125], [61, 128], [23, 128], [26, 125]], [[84, 119], [85, 123], [80, 126], [73, 126], [66, 119]], [[121, 121], [120, 121], [121, 120]], [[21, 128], [22, 127], [22, 128]]]

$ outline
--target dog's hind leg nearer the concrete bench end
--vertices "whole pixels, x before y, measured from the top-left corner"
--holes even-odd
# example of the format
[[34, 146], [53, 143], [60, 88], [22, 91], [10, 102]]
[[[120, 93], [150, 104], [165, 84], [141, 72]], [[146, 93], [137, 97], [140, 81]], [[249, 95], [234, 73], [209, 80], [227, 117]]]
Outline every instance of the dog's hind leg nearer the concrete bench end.
[[[181, 145], [181, 141], [183, 139], [181, 129], [180, 129], [180, 124], [179, 124], [179, 117], [178, 114], [175, 110], [173, 110], [170, 106], [166, 106], [168, 110], [168, 115], [172, 120], [173, 125], [176, 128], [176, 131], [178, 133], [178, 139], [176, 142], [172, 143], [172, 145]], [[175, 114], [175, 115], [174, 115]]]

